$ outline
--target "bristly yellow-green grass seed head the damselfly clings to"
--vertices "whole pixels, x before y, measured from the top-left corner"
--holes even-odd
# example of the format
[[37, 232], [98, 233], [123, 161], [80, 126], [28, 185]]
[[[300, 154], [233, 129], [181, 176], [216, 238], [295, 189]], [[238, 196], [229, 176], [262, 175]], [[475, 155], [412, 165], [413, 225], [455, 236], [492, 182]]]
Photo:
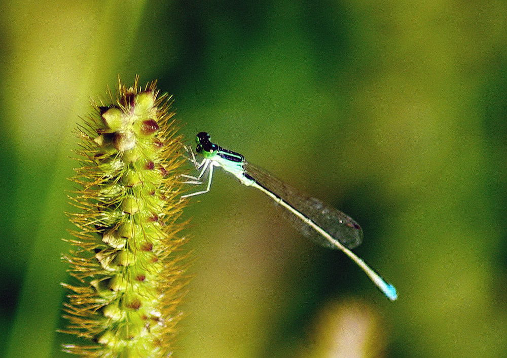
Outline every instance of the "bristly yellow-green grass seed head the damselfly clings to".
[[70, 199], [80, 212], [69, 214], [78, 229], [68, 240], [77, 249], [63, 257], [78, 284], [63, 284], [71, 294], [62, 332], [93, 341], [63, 346], [86, 357], [168, 356], [183, 315], [181, 138], [170, 97], [137, 82], [119, 81], [118, 97], [93, 103], [78, 130], [82, 167]]

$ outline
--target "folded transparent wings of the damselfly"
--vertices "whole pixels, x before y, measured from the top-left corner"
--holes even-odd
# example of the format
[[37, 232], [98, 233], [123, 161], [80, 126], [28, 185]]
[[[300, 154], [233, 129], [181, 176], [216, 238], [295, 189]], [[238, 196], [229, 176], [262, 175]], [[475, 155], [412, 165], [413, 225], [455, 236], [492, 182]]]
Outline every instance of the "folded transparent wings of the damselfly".
[[[348, 249], [355, 248], [363, 241], [363, 229], [350, 216], [314, 197], [301, 193], [262, 168], [245, 163], [244, 170], [257, 184], [280, 197], [281, 200], [313, 221]], [[282, 215], [311, 241], [325, 248], [338, 249], [336, 245], [326, 240], [300, 217], [282, 206], [278, 206], [278, 208], [282, 211]]]

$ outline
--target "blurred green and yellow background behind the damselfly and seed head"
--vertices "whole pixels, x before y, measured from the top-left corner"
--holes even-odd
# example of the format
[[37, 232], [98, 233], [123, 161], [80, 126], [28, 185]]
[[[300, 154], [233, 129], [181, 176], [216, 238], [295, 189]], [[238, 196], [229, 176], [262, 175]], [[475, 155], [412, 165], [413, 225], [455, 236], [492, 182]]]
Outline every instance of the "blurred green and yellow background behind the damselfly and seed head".
[[[192, 205], [179, 356], [507, 355], [507, 4], [4, 1], [0, 354], [59, 357], [71, 130], [158, 78], [199, 131], [356, 219], [307, 242], [216, 172]], [[353, 355], [356, 354], [356, 355]]]

